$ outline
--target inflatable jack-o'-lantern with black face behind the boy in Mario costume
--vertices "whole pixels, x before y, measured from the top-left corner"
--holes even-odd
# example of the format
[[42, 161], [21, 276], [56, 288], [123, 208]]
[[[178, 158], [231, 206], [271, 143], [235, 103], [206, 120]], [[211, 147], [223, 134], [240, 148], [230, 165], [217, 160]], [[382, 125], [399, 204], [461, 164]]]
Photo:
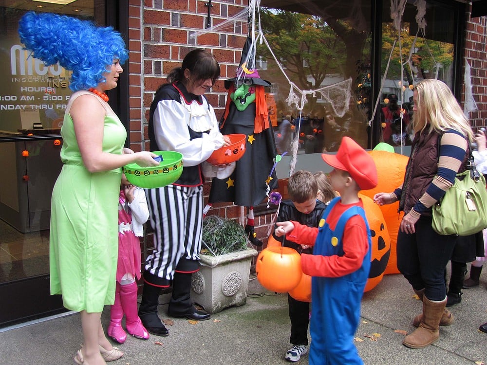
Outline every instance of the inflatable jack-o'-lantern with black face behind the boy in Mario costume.
[[364, 292], [368, 292], [374, 289], [384, 276], [391, 255], [391, 238], [379, 206], [368, 196], [363, 194], [358, 194], [358, 196], [362, 199], [364, 205], [372, 241], [369, 279], [364, 289]]

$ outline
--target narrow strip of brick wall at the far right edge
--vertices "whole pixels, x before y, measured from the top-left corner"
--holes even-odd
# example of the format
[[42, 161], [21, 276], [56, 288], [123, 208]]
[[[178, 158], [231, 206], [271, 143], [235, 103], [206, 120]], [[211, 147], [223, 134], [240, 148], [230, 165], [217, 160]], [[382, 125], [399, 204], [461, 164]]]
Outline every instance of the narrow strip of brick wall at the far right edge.
[[471, 68], [471, 83], [478, 110], [470, 112], [470, 123], [474, 129], [487, 125], [487, 17], [470, 18], [467, 14], [465, 59]]

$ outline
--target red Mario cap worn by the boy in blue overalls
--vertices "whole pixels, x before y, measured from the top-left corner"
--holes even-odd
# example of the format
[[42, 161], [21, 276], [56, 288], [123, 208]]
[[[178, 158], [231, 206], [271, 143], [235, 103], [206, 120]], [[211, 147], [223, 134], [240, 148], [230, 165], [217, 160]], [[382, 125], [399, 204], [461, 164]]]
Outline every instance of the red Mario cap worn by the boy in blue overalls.
[[336, 155], [321, 155], [323, 161], [338, 170], [347, 171], [360, 189], [377, 186], [377, 168], [372, 156], [352, 138], [343, 137]]

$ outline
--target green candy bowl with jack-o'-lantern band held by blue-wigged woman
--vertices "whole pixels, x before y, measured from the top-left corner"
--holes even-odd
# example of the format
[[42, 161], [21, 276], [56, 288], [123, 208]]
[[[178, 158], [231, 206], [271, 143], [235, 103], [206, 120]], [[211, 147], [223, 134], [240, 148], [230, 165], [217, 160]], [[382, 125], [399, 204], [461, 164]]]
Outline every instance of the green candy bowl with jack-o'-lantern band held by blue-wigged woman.
[[159, 166], [140, 167], [138, 164], [127, 164], [123, 172], [127, 180], [135, 186], [154, 189], [174, 183], [183, 173], [183, 154], [174, 151], [154, 151], [162, 157]]

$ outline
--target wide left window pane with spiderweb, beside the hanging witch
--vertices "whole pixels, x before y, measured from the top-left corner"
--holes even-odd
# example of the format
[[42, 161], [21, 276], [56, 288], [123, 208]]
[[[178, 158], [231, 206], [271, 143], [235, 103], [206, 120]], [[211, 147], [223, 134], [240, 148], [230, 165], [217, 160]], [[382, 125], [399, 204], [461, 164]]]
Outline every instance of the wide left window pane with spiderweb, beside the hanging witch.
[[[261, 14], [270, 50], [258, 47], [258, 55], [266, 59], [266, 69], [259, 73], [273, 85], [281, 153], [289, 151], [295, 137], [300, 154], [337, 151], [344, 136], [367, 146], [370, 4], [322, 5], [303, 6], [302, 12], [264, 9]], [[288, 105], [290, 91], [298, 106]]]

